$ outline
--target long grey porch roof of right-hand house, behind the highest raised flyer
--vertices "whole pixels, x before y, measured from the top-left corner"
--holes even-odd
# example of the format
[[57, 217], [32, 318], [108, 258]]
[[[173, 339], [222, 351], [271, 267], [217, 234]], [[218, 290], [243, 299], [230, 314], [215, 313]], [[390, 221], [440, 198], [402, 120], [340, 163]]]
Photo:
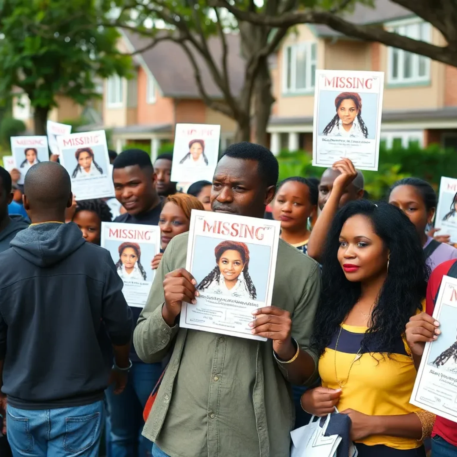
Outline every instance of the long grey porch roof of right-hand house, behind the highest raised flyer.
[[[439, 109], [426, 110], [396, 110], [383, 111], [382, 122], [404, 122], [404, 121], [423, 121], [423, 120], [446, 120], [455, 119], [457, 117], [457, 106], [445, 106]], [[313, 116], [306, 117], [279, 117], [272, 116], [269, 125], [301, 125], [312, 124]]]

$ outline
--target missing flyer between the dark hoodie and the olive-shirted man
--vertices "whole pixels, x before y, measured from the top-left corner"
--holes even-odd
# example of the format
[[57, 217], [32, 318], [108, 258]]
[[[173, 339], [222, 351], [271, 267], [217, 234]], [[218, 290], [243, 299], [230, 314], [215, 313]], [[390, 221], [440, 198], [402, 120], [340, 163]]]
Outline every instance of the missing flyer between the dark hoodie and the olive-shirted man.
[[101, 246], [107, 249], [124, 282], [129, 306], [143, 308], [154, 280], [152, 260], [160, 252], [157, 225], [101, 223]]

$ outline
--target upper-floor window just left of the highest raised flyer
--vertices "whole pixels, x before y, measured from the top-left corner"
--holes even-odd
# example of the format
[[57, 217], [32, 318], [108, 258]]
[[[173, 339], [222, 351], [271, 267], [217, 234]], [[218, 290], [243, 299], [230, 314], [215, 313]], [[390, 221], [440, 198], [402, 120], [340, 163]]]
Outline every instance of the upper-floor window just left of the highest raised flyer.
[[284, 51], [283, 91], [285, 93], [314, 90], [316, 77], [316, 43], [306, 42], [287, 46]]

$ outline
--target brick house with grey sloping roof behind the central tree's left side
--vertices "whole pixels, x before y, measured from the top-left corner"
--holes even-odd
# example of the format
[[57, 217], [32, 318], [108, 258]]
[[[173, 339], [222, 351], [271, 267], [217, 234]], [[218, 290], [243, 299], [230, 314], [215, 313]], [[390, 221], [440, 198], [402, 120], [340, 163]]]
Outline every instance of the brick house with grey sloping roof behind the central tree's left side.
[[[154, 159], [163, 143], [173, 142], [176, 123], [219, 124], [221, 149], [233, 142], [235, 122], [202, 101], [191, 62], [179, 44], [162, 41], [145, 49], [150, 39], [132, 32], [121, 33], [119, 50], [137, 53], [133, 56], [133, 78], [127, 80], [115, 75], [104, 85], [102, 128], [111, 131], [117, 151], [127, 143], [148, 144]], [[231, 90], [237, 94], [244, 78], [239, 36], [228, 34], [226, 39]], [[208, 40], [208, 47], [213, 55], [221, 55], [217, 37]], [[207, 65], [197, 54], [195, 59], [207, 94], [221, 99]]]

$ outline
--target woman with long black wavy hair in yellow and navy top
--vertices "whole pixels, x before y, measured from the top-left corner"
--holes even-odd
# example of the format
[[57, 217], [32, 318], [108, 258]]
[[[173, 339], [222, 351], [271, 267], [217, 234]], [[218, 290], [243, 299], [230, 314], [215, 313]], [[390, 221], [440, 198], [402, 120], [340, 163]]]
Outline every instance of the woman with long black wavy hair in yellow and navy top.
[[348, 414], [359, 457], [425, 457], [434, 415], [409, 403], [416, 369], [404, 333], [427, 277], [419, 236], [398, 208], [361, 200], [337, 213], [312, 337], [322, 387], [302, 406]]

